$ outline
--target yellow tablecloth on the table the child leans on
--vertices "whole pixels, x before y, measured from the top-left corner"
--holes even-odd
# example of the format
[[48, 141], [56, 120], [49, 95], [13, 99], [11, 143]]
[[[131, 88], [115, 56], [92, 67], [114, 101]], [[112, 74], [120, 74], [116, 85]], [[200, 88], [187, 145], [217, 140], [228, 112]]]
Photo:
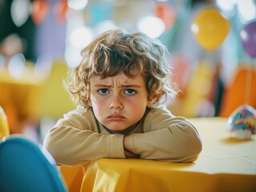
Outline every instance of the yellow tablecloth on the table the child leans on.
[[99, 159], [83, 176], [81, 191], [256, 191], [256, 138], [241, 141], [226, 118], [190, 119], [203, 141], [196, 162]]

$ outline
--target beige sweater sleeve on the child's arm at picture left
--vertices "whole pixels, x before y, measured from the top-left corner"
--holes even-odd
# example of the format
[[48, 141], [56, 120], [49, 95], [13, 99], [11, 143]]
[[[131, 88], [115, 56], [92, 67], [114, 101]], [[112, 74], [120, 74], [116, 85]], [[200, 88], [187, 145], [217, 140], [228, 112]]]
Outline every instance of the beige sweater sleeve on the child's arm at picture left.
[[99, 134], [92, 111], [64, 115], [47, 133], [43, 147], [58, 165], [79, 165], [98, 158], [125, 158], [124, 135]]

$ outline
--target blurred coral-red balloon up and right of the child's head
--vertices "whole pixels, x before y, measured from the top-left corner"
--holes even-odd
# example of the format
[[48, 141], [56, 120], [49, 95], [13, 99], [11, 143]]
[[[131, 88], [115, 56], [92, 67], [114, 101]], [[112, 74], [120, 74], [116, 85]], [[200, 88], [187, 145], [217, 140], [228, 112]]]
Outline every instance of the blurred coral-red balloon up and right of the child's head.
[[156, 4], [156, 17], [165, 22], [165, 30], [170, 30], [176, 20], [176, 11], [169, 2], [160, 2]]

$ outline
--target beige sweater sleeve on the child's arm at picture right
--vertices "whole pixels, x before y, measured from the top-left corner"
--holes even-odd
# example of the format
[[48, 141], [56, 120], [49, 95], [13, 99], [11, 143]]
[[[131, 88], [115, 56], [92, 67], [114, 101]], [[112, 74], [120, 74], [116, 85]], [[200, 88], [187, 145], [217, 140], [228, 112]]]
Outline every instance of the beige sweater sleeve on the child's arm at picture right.
[[140, 158], [192, 162], [201, 152], [201, 138], [185, 118], [168, 110], [152, 110], [144, 120], [144, 133], [124, 138], [124, 147]]

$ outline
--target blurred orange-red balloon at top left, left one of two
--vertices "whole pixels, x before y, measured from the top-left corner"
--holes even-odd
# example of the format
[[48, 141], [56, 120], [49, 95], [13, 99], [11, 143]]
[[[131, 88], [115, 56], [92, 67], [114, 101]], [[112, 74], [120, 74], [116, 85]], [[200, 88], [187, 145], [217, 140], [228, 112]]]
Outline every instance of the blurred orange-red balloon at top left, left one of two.
[[50, 11], [50, 3], [48, 0], [35, 0], [32, 2], [31, 18], [35, 24], [39, 25]]

